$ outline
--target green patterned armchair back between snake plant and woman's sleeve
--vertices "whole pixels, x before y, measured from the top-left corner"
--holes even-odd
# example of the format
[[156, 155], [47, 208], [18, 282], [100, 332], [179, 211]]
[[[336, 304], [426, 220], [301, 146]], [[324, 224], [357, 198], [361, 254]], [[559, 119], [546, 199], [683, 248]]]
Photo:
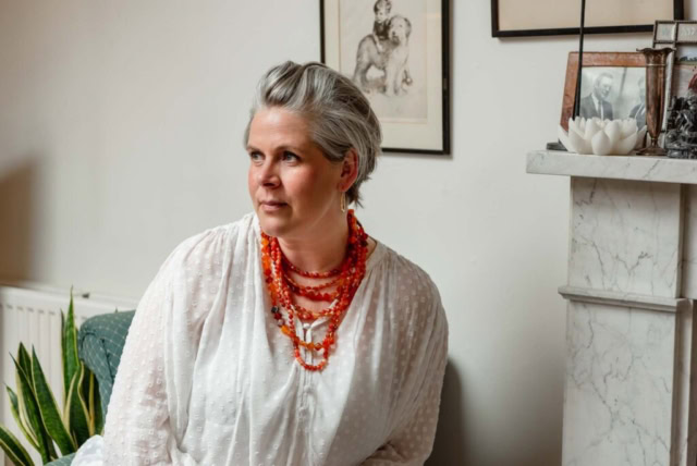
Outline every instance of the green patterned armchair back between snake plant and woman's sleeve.
[[133, 316], [135, 310], [102, 314], [90, 317], [80, 327], [80, 358], [97, 377], [105, 418]]

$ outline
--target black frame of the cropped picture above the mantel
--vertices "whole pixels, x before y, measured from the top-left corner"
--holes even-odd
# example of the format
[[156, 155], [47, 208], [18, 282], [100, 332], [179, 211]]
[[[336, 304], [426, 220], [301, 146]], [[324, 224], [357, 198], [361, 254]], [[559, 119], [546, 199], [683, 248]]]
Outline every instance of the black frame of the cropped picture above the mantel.
[[[523, 1], [523, 0], [519, 0]], [[670, 0], [667, 0], [670, 1]], [[673, 20], [685, 19], [685, 8], [683, 0], [673, 1]], [[580, 0], [578, 7], [578, 21], [580, 22]], [[584, 27], [584, 34], [620, 34], [620, 33], [650, 33], [653, 30], [653, 22], [650, 24], [623, 25], [623, 26], [588, 26]], [[499, 0], [491, 0], [491, 36], [499, 38], [506, 37], [530, 37], [530, 36], [562, 36], [578, 35], [578, 27], [549, 27], [535, 29], [501, 29], [499, 27]]]

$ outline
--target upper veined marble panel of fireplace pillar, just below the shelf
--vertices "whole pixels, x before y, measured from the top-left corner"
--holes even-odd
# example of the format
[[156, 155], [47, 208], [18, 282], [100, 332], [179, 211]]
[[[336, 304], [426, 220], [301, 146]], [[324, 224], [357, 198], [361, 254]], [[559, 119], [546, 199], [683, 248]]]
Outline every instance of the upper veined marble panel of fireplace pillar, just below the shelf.
[[568, 285], [676, 297], [681, 207], [676, 184], [573, 177]]

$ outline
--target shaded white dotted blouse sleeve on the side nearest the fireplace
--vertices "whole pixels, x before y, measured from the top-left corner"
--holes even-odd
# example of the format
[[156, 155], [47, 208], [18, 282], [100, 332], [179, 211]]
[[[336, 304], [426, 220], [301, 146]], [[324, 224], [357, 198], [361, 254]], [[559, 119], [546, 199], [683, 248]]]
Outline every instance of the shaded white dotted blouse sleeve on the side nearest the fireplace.
[[403, 384], [402, 417], [390, 439], [362, 463], [364, 466], [423, 465], [433, 447], [448, 361], [448, 321], [435, 285], [432, 290], [432, 305], [425, 306], [432, 318], [427, 326], [430, 331], [423, 339], [413, 339], [408, 351], [415, 364]]

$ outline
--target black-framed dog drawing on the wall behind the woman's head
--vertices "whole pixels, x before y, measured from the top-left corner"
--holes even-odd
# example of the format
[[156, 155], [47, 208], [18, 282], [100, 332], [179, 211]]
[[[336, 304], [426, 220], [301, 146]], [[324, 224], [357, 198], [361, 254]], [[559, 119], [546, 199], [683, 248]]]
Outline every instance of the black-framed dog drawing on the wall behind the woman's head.
[[449, 0], [320, 0], [321, 61], [365, 93], [383, 150], [450, 152]]

